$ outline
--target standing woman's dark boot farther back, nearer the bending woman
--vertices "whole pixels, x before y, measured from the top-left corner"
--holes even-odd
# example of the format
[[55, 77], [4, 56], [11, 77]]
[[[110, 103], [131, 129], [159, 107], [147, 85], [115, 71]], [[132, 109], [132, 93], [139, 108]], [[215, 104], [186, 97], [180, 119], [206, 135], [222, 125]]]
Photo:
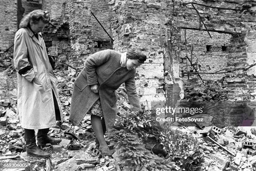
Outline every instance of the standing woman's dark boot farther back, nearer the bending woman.
[[59, 138], [52, 138], [47, 135], [49, 132], [49, 128], [45, 129], [38, 129], [37, 132], [37, 141], [39, 146], [45, 146], [47, 143], [51, 145], [59, 144], [61, 139]]

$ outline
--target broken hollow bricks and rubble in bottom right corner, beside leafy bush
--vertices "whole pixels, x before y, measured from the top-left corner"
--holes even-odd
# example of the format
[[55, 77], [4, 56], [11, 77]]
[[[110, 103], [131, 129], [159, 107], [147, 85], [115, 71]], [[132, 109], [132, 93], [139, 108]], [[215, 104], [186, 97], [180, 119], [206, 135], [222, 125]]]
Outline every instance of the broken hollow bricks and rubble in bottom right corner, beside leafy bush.
[[[215, 161], [211, 167], [226, 171], [253, 171], [256, 170], [256, 130], [250, 127], [225, 127], [207, 126], [197, 130], [208, 147], [205, 154], [208, 160]], [[209, 143], [210, 142], [210, 143]], [[209, 148], [209, 145], [212, 148]], [[216, 151], [222, 150], [221, 154]], [[225, 154], [225, 155], [223, 155]], [[216, 170], [216, 168], [215, 168]]]

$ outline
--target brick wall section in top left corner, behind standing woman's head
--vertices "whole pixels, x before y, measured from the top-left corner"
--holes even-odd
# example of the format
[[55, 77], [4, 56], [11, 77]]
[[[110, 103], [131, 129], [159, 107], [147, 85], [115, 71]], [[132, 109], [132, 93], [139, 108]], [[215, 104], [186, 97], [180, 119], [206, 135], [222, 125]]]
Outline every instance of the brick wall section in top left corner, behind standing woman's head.
[[4, 0], [0, 3], [0, 50], [13, 44], [17, 31], [17, 1]]

